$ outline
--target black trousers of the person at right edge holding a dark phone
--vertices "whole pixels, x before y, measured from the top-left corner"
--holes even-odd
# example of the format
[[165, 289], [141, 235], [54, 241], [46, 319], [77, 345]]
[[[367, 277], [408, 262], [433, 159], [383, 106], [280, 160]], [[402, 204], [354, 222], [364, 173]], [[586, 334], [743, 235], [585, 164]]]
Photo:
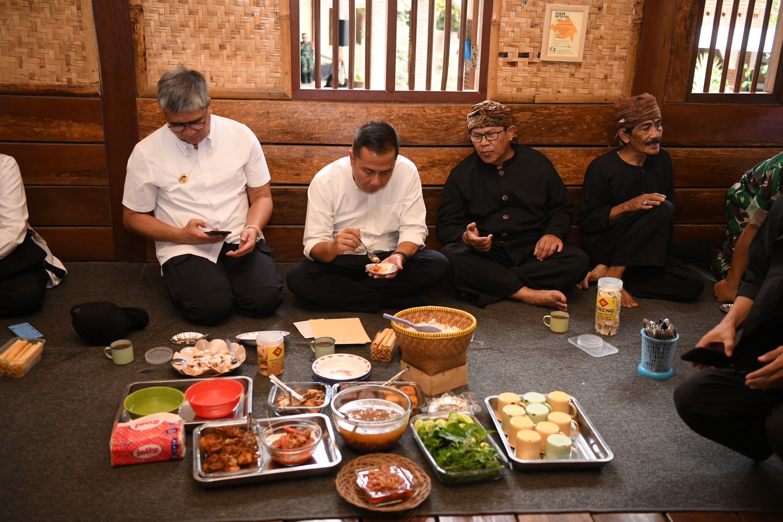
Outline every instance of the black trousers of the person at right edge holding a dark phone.
[[783, 459], [783, 390], [751, 390], [745, 374], [701, 370], [674, 390], [691, 430], [751, 459]]

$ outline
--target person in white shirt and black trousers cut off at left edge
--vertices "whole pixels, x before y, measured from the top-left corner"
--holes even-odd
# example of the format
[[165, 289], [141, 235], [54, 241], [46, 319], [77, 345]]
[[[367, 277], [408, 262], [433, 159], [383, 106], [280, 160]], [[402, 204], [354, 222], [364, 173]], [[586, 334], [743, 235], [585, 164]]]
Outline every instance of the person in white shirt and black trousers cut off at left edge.
[[0, 317], [41, 310], [44, 291], [66, 270], [27, 223], [27, 198], [16, 160], [0, 154]]

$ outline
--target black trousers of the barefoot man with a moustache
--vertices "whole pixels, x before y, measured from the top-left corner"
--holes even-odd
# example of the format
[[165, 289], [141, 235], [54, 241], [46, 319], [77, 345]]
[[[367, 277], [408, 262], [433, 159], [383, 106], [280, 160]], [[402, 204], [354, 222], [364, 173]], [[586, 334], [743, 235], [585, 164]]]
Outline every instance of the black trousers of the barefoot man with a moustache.
[[674, 205], [618, 219], [598, 241], [585, 245], [593, 266], [626, 266], [622, 285], [633, 297], [685, 301], [702, 295], [704, 277], [669, 253], [674, 248]]

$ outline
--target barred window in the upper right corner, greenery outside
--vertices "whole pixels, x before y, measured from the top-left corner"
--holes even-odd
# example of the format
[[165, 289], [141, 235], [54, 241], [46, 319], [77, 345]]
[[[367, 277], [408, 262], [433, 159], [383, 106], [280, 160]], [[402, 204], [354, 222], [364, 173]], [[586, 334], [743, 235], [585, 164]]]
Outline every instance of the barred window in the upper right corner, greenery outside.
[[783, 84], [781, 0], [701, 0], [691, 101], [778, 101]]

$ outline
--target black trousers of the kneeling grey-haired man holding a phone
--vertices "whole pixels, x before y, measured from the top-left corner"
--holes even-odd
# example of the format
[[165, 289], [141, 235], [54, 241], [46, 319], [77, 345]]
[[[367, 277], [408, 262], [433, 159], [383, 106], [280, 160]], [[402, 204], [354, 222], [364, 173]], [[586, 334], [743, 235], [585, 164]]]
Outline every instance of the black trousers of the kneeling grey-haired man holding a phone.
[[258, 244], [246, 256], [226, 256], [237, 248], [223, 243], [217, 263], [185, 254], [163, 264], [171, 302], [188, 321], [217, 324], [234, 306], [258, 316], [272, 314], [280, 306], [283, 276], [269, 256], [272, 249]]

